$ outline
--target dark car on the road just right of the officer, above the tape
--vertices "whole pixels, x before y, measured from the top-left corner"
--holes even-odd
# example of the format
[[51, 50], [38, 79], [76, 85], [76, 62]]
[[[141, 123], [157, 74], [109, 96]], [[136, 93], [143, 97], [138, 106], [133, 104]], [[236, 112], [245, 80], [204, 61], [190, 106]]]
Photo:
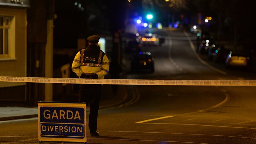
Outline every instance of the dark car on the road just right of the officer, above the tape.
[[154, 58], [150, 52], [139, 52], [131, 59], [131, 72], [154, 72]]

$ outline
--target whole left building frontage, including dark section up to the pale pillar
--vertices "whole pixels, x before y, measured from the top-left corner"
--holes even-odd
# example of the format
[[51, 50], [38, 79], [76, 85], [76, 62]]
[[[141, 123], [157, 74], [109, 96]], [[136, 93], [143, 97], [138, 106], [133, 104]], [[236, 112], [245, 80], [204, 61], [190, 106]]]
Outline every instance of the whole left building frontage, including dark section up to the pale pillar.
[[[52, 77], [54, 0], [0, 0], [0, 76]], [[52, 101], [52, 84], [0, 82], [0, 106]]]

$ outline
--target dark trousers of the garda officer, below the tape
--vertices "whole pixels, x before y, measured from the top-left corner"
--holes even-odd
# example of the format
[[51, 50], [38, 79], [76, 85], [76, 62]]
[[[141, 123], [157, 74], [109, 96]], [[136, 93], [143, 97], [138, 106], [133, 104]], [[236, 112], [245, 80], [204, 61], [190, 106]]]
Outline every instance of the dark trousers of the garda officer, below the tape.
[[80, 84], [79, 102], [90, 103], [89, 129], [90, 132], [96, 132], [98, 110], [100, 106], [101, 84]]

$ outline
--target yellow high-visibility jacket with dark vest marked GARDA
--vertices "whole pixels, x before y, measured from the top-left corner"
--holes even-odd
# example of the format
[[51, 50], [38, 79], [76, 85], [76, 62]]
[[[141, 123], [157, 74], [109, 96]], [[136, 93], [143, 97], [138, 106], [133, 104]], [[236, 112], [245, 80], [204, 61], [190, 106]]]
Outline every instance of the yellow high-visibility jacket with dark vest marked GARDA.
[[104, 79], [109, 71], [108, 57], [96, 45], [89, 45], [77, 52], [72, 63], [72, 70], [80, 77], [85, 75], [97, 74], [98, 78]]

